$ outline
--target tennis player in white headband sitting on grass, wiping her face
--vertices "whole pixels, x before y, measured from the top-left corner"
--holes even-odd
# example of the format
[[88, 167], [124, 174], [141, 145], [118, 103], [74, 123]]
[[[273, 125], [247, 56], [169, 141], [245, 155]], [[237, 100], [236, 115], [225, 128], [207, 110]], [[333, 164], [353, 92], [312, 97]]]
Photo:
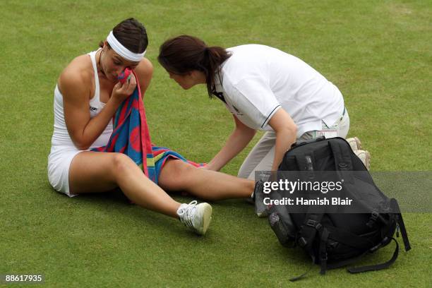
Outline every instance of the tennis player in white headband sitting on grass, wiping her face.
[[[129, 18], [116, 25], [100, 49], [78, 56], [66, 66], [54, 90], [49, 182], [69, 197], [119, 187], [133, 203], [179, 217], [186, 227], [205, 234], [211, 206], [196, 205], [196, 201], [178, 203], [164, 190], [187, 191], [207, 200], [248, 198], [253, 193], [253, 181], [198, 169], [169, 157], [159, 160], [164, 164], [156, 171], [158, 183], [154, 183], [128, 156], [90, 151], [107, 145], [113, 131], [112, 118], [136, 85], [142, 93], [148, 88], [152, 64], [143, 58], [147, 45], [144, 26]], [[135, 71], [138, 79], [132, 75], [130, 81], [121, 84], [118, 76], [126, 68]]]

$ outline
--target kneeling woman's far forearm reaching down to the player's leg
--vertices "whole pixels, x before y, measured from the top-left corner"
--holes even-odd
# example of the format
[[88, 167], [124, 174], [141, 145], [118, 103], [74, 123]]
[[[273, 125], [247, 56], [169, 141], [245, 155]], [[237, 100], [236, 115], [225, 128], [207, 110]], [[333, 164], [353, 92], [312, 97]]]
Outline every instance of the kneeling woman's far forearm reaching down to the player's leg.
[[[233, 115], [234, 116], [234, 115]], [[243, 150], [249, 142], [251, 142], [256, 131], [252, 128], [241, 123], [236, 116], [234, 116], [236, 128], [229, 136], [224, 147], [217, 153], [217, 155], [205, 166], [205, 169], [219, 171], [225, 166], [232, 158], [234, 158], [241, 150]]]

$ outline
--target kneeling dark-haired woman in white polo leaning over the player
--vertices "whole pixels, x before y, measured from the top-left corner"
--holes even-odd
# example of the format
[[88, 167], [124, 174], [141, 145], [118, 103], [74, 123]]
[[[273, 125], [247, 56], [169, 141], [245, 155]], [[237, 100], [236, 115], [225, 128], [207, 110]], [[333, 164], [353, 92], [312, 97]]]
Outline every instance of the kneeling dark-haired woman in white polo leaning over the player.
[[207, 169], [219, 171], [256, 130], [268, 132], [241, 165], [242, 178], [277, 170], [296, 140], [347, 136], [349, 116], [341, 92], [304, 61], [278, 49], [208, 47], [197, 37], [181, 35], [164, 42], [157, 59], [182, 88], [207, 85], [208, 95], [222, 100], [234, 116], [233, 133]]

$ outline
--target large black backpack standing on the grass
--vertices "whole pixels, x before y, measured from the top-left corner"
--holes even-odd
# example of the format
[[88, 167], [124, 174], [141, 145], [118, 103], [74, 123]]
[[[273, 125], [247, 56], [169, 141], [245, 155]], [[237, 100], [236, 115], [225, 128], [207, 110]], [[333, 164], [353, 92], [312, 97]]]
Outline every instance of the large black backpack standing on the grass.
[[[399, 245], [393, 238], [395, 230], [397, 237], [399, 231], [402, 234], [405, 251], [411, 248], [397, 201], [386, 197], [373, 183], [363, 162], [343, 138], [318, 138], [294, 143], [284, 155], [279, 171], [306, 173], [306, 178], [313, 178], [318, 172], [332, 171], [349, 180], [344, 183], [344, 196], [361, 205], [359, 213], [326, 212], [325, 208], [313, 210], [311, 206], [306, 206], [304, 212], [290, 212], [288, 205], [268, 206], [270, 227], [280, 243], [303, 248], [313, 263], [320, 265], [321, 274], [328, 269], [352, 264], [366, 253], [373, 253], [394, 240], [395, 252], [387, 262], [347, 270], [359, 273], [388, 268], [399, 253]], [[360, 175], [356, 175], [357, 172]], [[263, 185], [262, 181], [259, 182]], [[269, 196], [283, 199], [287, 192], [272, 191]]]

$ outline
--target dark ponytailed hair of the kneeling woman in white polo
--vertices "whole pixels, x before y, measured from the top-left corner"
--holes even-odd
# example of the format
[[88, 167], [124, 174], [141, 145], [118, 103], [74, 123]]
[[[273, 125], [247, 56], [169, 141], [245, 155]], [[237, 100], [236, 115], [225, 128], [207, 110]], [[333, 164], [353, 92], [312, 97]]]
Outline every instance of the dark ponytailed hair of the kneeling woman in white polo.
[[197, 37], [180, 35], [161, 45], [157, 61], [169, 73], [185, 75], [194, 70], [203, 72], [208, 95], [212, 97], [215, 75], [229, 56], [231, 54], [222, 47], [208, 47]]

